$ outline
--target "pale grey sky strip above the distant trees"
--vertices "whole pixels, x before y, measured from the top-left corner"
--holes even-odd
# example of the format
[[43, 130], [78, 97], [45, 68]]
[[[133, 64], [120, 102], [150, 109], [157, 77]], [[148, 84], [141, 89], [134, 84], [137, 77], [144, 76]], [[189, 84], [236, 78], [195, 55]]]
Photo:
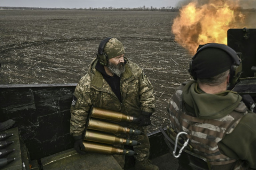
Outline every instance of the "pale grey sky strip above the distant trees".
[[176, 7], [179, 0], [0, 0], [2, 7], [42, 7], [42, 8], [137, 8]]

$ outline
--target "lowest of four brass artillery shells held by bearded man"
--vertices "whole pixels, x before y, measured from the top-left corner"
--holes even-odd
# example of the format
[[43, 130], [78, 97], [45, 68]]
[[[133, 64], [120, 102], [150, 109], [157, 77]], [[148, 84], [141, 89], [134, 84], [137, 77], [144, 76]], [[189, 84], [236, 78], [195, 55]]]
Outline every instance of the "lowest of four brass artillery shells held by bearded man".
[[118, 154], [118, 155], [137, 155], [132, 150], [117, 148], [112, 145], [106, 145], [97, 142], [83, 141], [83, 145], [85, 146], [85, 152], [95, 152], [95, 153], [103, 153], [103, 154]]

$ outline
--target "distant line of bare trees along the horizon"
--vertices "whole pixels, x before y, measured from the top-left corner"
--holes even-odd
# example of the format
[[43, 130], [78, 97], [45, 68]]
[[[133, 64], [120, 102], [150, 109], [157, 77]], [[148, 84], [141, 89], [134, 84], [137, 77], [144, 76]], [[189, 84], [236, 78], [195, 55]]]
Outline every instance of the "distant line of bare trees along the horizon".
[[110, 11], [170, 11], [170, 12], [176, 12], [179, 11], [179, 8], [177, 7], [138, 7], [138, 8], [114, 8], [114, 7], [102, 7], [102, 8], [38, 8], [38, 7], [0, 7], [1, 9], [9, 9], [9, 10], [110, 10]]

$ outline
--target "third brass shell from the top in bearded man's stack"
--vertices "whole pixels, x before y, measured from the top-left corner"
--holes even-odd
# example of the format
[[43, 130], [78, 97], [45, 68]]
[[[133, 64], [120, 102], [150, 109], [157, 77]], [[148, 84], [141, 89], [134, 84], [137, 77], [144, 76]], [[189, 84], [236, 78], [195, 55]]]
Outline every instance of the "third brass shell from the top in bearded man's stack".
[[90, 130], [90, 129], [86, 130], [84, 140], [106, 143], [106, 144], [121, 144], [121, 145], [130, 145], [130, 146], [140, 145], [140, 143], [135, 140], [125, 139], [112, 134], [106, 134], [100, 131]]

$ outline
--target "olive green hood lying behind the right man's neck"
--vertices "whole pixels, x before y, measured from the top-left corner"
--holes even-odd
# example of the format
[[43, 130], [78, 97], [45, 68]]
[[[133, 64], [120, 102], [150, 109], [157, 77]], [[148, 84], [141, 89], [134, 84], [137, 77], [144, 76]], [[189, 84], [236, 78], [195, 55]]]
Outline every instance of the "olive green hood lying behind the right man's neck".
[[240, 95], [232, 91], [217, 94], [205, 93], [200, 90], [195, 81], [184, 86], [182, 97], [186, 112], [202, 119], [217, 119], [226, 116], [237, 107], [242, 99]]

